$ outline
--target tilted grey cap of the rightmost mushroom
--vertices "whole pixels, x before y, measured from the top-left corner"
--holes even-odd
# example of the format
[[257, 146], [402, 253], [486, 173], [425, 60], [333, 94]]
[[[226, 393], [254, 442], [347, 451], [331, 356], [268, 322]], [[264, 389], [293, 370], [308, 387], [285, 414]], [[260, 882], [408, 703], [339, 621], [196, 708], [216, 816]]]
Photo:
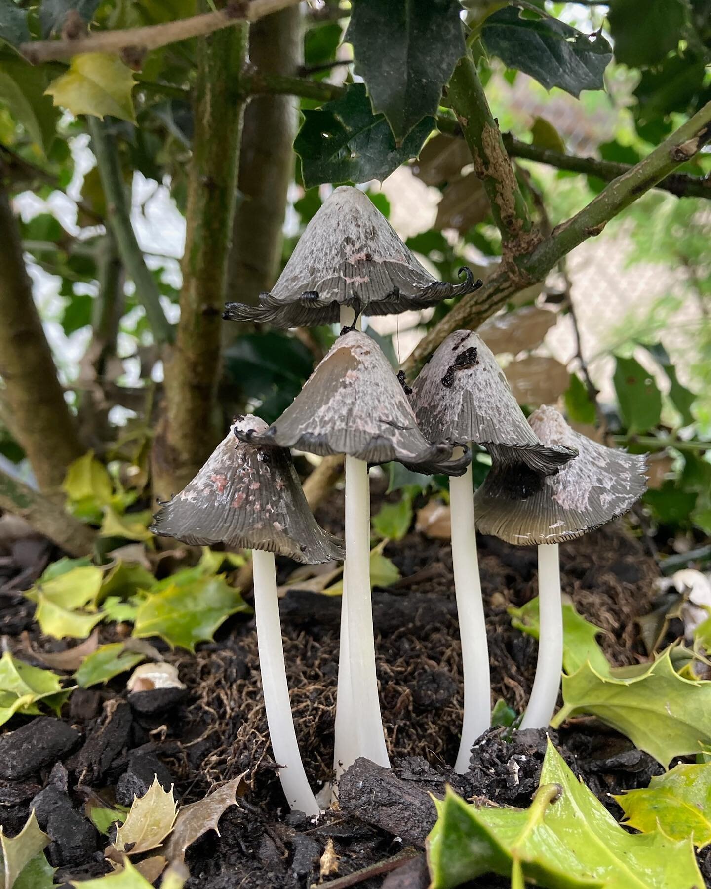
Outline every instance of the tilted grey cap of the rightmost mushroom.
[[531, 478], [525, 500], [516, 499], [520, 467], [494, 461], [474, 497], [482, 533], [518, 544], [569, 541], [623, 515], [643, 495], [644, 455], [598, 445], [552, 407], [539, 407], [529, 422], [542, 442], [575, 448], [578, 456], [555, 476]]

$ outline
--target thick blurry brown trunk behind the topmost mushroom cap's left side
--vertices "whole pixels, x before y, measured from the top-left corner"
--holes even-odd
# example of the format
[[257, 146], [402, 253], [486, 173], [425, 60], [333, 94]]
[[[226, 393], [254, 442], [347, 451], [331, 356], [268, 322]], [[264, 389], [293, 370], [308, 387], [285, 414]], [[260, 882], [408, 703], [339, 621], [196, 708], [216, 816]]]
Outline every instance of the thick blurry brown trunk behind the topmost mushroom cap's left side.
[[[275, 75], [295, 75], [302, 55], [301, 12], [285, 9], [261, 19], [250, 30], [250, 61]], [[282, 253], [286, 193], [292, 181], [292, 143], [298, 125], [298, 100], [261, 95], [244, 112], [239, 187], [232, 250], [230, 300], [256, 305], [275, 282]], [[225, 324], [228, 340], [240, 331]]]

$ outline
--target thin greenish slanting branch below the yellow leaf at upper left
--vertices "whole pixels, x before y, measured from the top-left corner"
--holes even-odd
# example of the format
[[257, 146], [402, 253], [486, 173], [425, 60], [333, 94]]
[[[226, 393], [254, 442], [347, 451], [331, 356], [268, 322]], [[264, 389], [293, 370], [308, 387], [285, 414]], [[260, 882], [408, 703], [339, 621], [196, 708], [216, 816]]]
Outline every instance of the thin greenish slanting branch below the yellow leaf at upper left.
[[126, 274], [136, 285], [136, 297], [146, 309], [148, 323], [156, 342], [172, 342], [174, 338], [172, 324], [165, 316], [156, 281], [148, 270], [131, 224], [131, 212], [126, 199], [116, 145], [109, 138], [105, 124], [98, 117], [89, 116], [87, 120], [92, 133], [92, 150], [96, 156], [101, 185], [106, 196], [108, 226], [116, 238]]

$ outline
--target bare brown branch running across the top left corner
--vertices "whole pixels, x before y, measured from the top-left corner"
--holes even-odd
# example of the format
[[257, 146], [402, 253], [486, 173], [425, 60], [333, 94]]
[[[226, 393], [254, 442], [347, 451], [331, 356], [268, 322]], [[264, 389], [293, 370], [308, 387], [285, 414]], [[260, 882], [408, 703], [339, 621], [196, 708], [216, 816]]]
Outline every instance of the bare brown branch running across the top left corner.
[[132, 49], [150, 52], [161, 46], [177, 44], [190, 37], [205, 36], [229, 28], [241, 21], [256, 21], [272, 12], [293, 6], [300, 0], [230, 0], [218, 12], [204, 12], [189, 19], [168, 21], [142, 28], [120, 28], [115, 31], [95, 31], [74, 40], [38, 40], [21, 44], [20, 52], [32, 64], [43, 61], [66, 60], [82, 52], [121, 53]]

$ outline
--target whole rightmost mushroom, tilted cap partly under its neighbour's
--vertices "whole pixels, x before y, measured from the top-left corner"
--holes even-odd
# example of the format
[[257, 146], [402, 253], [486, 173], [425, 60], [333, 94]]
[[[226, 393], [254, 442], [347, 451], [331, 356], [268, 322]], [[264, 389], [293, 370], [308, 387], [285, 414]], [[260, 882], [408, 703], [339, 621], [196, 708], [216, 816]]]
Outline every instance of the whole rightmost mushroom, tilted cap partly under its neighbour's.
[[495, 460], [474, 501], [481, 532], [539, 548], [539, 656], [521, 727], [542, 728], [553, 716], [563, 670], [558, 544], [631, 509], [646, 490], [646, 456], [598, 445], [571, 429], [553, 407], [539, 407], [529, 423], [545, 445], [575, 449], [578, 456], [547, 477]]

